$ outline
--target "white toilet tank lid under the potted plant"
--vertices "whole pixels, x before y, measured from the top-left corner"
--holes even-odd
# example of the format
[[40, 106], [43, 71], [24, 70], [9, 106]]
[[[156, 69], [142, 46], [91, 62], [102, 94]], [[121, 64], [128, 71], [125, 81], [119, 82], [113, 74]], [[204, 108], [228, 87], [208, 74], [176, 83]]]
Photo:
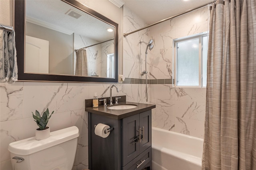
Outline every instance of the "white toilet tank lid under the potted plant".
[[11, 153], [19, 155], [29, 155], [40, 150], [54, 147], [60, 143], [70, 141], [79, 136], [79, 130], [76, 126], [60, 129], [50, 133], [50, 137], [43, 140], [36, 140], [36, 137], [23, 139], [9, 144], [8, 150]]

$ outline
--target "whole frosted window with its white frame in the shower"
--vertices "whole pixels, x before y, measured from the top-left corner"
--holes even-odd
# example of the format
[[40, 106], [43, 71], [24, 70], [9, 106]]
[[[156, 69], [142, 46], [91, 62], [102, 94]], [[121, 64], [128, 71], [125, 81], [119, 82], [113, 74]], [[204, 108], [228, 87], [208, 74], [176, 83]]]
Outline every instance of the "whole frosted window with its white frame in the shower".
[[175, 86], [206, 87], [207, 55], [206, 32], [174, 39]]

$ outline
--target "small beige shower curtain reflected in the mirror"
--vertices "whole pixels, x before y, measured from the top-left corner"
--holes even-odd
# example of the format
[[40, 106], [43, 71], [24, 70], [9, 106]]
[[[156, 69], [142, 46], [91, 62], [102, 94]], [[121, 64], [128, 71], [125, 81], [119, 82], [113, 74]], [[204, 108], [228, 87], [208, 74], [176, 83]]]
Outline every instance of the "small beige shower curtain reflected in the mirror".
[[88, 76], [87, 57], [85, 49], [76, 50], [76, 76]]

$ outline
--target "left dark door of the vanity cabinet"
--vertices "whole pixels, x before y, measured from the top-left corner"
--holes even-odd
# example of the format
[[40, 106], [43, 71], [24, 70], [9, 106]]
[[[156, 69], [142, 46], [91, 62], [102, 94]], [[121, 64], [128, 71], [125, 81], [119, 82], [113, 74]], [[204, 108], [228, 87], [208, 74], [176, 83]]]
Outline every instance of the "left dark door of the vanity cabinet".
[[140, 144], [139, 141], [136, 142], [139, 135], [140, 117], [139, 114], [136, 114], [126, 117], [122, 121], [122, 166], [125, 166], [140, 154]]

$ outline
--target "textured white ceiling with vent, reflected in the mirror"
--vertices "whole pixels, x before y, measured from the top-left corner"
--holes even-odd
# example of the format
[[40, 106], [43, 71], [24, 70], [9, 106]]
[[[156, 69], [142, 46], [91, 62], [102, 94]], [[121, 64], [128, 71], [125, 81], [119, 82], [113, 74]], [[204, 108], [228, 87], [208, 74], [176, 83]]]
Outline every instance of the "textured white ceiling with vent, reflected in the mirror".
[[[68, 16], [66, 13], [70, 9], [82, 16], [78, 19]], [[111, 25], [60, 0], [28, 0], [26, 1], [26, 16], [64, 27], [98, 42], [114, 37], [114, 32], [106, 31], [107, 28], [112, 27]]]

